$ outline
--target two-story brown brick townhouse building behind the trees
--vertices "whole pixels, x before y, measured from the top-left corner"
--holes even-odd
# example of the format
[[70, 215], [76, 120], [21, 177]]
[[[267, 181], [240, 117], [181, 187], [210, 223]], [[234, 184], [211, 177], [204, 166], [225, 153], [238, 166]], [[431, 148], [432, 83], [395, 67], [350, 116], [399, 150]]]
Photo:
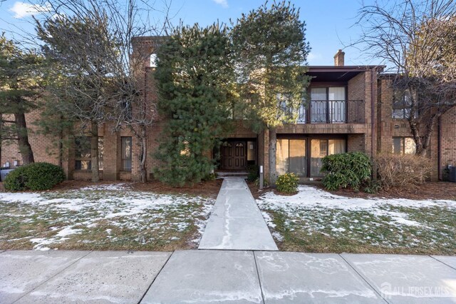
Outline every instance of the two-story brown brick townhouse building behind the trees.
[[[154, 88], [154, 46], [157, 37], [136, 37], [135, 58], [142, 60], [145, 75], [145, 98], [157, 100]], [[333, 66], [309, 66], [312, 77], [310, 100], [299, 108], [295, 123], [277, 129], [276, 170], [293, 172], [303, 181], [318, 179], [321, 160], [334, 153], [361, 151], [375, 157], [377, 153], [415, 153], [408, 126], [407, 104], [398, 100], [390, 87], [390, 78], [382, 74], [383, 66], [346, 66], [343, 51], [337, 51]], [[65, 153], [58, 153], [58, 138], [42, 136], [34, 121], [37, 111], [26, 115], [36, 161], [62, 166], [69, 179], [90, 179], [88, 138], [76, 138]], [[157, 118], [148, 128], [147, 150], [155, 151], [167, 118]], [[235, 121], [235, 128], [224, 134], [219, 151], [218, 169], [244, 171], [249, 164], [264, 166], [269, 172], [269, 132], [254, 133], [248, 121]], [[113, 126], [99, 126], [100, 177], [104, 180], [138, 180], [139, 146], [125, 130], [113, 132]], [[217, 153], [219, 152], [219, 153]], [[442, 116], [433, 131], [427, 153], [432, 163], [431, 180], [445, 179], [445, 169], [456, 166], [456, 108]], [[13, 142], [1, 144], [1, 164], [21, 165], [21, 155]], [[147, 156], [147, 173], [158, 161]]]

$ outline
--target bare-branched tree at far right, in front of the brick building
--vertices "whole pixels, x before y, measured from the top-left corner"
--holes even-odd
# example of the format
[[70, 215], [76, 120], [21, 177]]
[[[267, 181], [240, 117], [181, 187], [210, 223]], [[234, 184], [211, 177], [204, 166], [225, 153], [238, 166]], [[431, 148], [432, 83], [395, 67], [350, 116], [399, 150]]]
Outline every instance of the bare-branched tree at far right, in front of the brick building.
[[456, 1], [375, 1], [356, 24], [354, 45], [388, 64], [393, 90], [408, 92], [410, 131], [425, 153], [438, 118], [456, 106]]

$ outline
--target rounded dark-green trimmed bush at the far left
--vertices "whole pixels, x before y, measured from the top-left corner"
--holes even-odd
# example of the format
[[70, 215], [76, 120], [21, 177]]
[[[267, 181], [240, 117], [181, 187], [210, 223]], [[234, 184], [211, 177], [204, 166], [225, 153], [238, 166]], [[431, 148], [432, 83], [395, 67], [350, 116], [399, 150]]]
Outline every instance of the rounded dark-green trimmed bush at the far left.
[[5, 178], [8, 191], [48, 190], [65, 180], [65, 173], [52, 163], [31, 163], [16, 168]]

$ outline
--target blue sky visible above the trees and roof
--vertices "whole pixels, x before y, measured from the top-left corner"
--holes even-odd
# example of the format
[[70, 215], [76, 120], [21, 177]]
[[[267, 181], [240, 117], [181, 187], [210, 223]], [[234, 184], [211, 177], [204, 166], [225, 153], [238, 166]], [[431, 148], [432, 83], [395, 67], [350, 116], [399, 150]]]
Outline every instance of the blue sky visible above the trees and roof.
[[[31, 11], [33, 7], [27, 0], [0, 2], [0, 31], [6, 31], [11, 36], [13, 32], [22, 30], [33, 31]], [[24, 4], [26, 2], [26, 4]], [[160, 4], [160, 1], [156, 1]], [[270, 1], [271, 2], [271, 1]], [[264, 3], [260, 0], [172, 0], [172, 19], [178, 24], [182, 19], [184, 24], [198, 22], [205, 26], [217, 19], [221, 22], [235, 20], [242, 13]], [[356, 13], [361, 7], [358, 0], [294, 0], [292, 3], [301, 8], [301, 19], [306, 21], [306, 38], [311, 44], [309, 64], [333, 65], [333, 55], [338, 49], [346, 52], [346, 65], [373, 64], [375, 59], [367, 61], [355, 48], [345, 48], [359, 36], [359, 30], [353, 26]], [[16, 34], [16, 37], [19, 37]]]

